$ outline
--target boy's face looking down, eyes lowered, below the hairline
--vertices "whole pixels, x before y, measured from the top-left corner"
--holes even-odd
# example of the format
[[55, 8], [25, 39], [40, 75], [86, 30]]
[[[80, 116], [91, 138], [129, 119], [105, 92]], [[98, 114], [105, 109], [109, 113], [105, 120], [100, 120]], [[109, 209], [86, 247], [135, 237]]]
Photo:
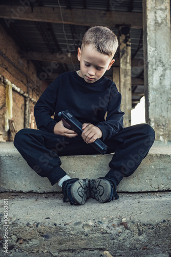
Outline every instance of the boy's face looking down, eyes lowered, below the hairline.
[[98, 52], [92, 45], [78, 48], [78, 61], [80, 61], [79, 76], [88, 83], [99, 80], [109, 70], [115, 60], [106, 54]]

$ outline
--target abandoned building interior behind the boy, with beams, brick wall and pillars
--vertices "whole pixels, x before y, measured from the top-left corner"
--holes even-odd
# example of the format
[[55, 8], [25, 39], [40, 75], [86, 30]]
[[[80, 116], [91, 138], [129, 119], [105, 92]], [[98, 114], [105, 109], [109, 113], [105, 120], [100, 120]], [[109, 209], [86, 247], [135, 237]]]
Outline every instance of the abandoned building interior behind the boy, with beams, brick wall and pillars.
[[91, 26], [118, 37], [105, 76], [122, 94], [124, 125], [145, 95], [146, 123], [170, 141], [170, 3], [161, 0], [2, 0], [0, 3], [0, 141], [36, 128], [34, 105], [62, 72], [79, 69], [77, 48]]

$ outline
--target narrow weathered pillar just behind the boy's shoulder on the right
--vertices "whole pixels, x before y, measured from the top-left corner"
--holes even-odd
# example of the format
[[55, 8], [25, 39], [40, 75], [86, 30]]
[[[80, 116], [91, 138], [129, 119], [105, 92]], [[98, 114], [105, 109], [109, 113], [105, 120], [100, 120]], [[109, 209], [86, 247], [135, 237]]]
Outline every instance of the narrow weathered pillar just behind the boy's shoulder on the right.
[[124, 126], [131, 125], [132, 90], [131, 90], [131, 39], [130, 27], [119, 27], [120, 57], [120, 93], [122, 95], [121, 110], [124, 115]]

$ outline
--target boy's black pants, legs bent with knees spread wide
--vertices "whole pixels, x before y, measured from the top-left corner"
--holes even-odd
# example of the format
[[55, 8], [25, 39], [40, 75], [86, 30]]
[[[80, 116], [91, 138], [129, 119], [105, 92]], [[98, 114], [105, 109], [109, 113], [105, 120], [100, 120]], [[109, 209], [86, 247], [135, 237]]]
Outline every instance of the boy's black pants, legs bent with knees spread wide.
[[[109, 153], [114, 153], [111, 168], [105, 176], [113, 177], [117, 185], [138, 168], [155, 140], [155, 132], [148, 124], [125, 127], [116, 136], [104, 140]], [[48, 177], [54, 185], [66, 172], [60, 168], [59, 156], [99, 154], [80, 136], [67, 138], [52, 133], [24, 128], [14, 139], [14, 145], [29, 166], [41, 177]], [[80, 178], [81, 179], [81, 178]]]

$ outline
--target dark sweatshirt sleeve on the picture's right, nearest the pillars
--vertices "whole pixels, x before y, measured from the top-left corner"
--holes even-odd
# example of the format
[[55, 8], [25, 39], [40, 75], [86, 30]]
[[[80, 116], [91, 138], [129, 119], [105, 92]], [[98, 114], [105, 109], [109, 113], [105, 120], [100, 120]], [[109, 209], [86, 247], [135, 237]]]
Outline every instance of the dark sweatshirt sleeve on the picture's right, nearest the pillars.
[[120, 104], [121, 94], [115, 86], [111, 89], [106, 120], [97, 124], [102, 131], [102, 140], [110, 139], [123, 129], [124, 113], [120, 110]]

